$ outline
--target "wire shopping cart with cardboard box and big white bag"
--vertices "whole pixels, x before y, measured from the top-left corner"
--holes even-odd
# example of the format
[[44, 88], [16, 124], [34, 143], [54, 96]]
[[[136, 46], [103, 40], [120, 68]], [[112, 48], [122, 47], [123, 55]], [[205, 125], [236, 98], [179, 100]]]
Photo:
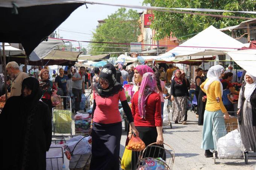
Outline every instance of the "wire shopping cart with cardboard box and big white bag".
[[248, 163], [248, 153], [244, 153], [243, 143], [240, 133], [240, 125], [237, 117], [230, 116], [229, 120], [225, 120], [225, 123], [220, 123], [223, 117], [214, 117], [214, 123], [218, 122], [218, 125], [214, 126], [214, 140], [216, 142], [216, 151], [214, 151], [214, 163], [216, 158], [219, 159], [244, 159], [245, 163]]

